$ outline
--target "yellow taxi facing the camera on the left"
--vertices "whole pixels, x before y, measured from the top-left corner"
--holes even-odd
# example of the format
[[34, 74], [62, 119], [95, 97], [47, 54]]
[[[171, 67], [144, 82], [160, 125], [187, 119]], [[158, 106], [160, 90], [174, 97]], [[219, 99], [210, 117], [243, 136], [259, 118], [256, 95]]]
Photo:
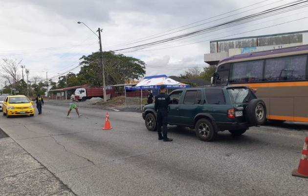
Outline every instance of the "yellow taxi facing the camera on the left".
[[33, 101], [24, 95], [7, 96], [2, 104], [3, 116], [34, 116]]

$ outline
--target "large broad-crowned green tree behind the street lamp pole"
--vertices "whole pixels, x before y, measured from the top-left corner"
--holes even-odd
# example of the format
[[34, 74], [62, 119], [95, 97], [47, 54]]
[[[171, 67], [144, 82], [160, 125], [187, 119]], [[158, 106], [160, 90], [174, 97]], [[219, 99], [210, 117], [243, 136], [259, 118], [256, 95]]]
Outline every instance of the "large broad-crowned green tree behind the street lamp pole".
[[[102, 69], [99, 65], [100, 53], [94, 52], [82, 56], [82, 68], [77, 74], [78, 80], [83, 84], [102, 85]], [[115, 54], [113, 51], [103, 52], [105, 65], [105, 80], [107, 85], [123, 84], [127, 79], [138, 79], [145, 74], [145, 63], [137, 58]]]

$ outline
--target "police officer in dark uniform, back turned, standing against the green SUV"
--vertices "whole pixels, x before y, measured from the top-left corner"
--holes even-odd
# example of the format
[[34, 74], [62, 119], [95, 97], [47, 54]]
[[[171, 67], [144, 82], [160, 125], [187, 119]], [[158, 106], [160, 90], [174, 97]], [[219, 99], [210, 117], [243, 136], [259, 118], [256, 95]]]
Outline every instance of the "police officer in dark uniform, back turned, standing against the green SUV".
[[[157, 112], [157, 132], [158, 140], [164, 142], [171, 142], [172, 139], [167, 137], [167, 120], [169, 110], [170, 97], [166, 94], [166, 87], [160, 87], [160, 94], [155, 97], [155, 111]], [[163, 134], [161, 134], [161, 127], [163, 127]]]

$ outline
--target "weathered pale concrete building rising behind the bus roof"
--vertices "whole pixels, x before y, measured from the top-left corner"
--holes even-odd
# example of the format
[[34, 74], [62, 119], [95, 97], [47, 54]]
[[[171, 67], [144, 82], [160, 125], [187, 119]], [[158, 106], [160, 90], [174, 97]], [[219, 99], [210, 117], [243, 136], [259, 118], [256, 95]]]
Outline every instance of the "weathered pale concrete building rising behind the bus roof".
[[240, 37], [227, 40], [214, 40], [210, 41], [210, 53], [204, 54], [204, 62], [210, 65], [217, 65], [220, 60], [237, 54], [281, 49], [306, 44], [308, 44], [308, 30], [254, 37]]

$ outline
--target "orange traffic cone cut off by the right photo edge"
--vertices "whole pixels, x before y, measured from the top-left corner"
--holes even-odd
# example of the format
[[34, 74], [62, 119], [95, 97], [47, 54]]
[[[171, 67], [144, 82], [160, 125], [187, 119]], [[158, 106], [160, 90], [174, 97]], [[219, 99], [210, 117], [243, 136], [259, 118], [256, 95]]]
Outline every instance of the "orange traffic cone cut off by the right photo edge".
[[302, 151], [302, 157], [298, 170], [294, 170], [292, 175], [308, 178], [308, 137], [305, 139], [305, 144]]

